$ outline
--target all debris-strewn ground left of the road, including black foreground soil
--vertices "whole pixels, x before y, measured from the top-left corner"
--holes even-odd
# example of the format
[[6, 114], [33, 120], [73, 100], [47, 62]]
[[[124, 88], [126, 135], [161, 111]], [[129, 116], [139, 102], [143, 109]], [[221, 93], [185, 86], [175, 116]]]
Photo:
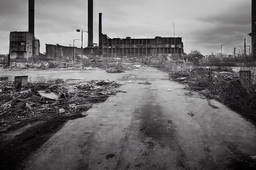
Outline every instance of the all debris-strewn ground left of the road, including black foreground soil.
[[[40, 148], [68, 120], [85, 117], [92, 104], [105, 101], [121, 86], [109, 80], [83, 82], [54, 79], [17, 88], [0, 81], [0, 169], [18, 169], [19, 163]], [[52, 94], [58, 99], [45, 95]]]

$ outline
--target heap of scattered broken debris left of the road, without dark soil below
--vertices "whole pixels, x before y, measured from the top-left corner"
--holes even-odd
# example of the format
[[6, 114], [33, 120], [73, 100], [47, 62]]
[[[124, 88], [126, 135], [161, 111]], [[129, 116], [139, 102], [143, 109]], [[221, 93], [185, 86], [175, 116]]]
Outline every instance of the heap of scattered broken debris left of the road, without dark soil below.
[[14, 89], [15, 84], [0, 81], [0, 132], [15, 130], [37, 121], [54, 117], [83, 117], [81, 113], [93, 103], [103, 102], [119, 92], [120, 85], [108, 80], [50, 80], [45, 83], [28, 83]]

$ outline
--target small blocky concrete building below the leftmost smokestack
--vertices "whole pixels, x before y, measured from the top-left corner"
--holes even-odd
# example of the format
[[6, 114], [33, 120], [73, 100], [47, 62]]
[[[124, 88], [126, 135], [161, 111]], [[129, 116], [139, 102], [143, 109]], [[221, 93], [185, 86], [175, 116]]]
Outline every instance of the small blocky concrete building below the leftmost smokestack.
[[[13, 31], [10, 33], [10, 59], [37, 56], [40, 54], [40, 42], [30, 32]], [[34, 54], [33, 54], [34, 52]]]

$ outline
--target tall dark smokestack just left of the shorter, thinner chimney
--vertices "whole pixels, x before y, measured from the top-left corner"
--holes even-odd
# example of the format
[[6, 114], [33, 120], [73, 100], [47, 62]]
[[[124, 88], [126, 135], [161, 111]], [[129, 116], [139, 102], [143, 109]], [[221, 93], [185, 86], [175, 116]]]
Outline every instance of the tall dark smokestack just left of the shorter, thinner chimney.
[[88, 47], [93, 46], [93, 0], [88, 0]]

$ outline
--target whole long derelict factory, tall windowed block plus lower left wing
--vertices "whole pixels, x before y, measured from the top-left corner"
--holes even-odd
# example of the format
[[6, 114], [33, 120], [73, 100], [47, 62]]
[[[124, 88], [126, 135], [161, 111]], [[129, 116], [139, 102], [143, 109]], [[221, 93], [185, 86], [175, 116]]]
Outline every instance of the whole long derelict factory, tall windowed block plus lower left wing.
[[[103, 57], [156, 57], [161, 54], [166, 54], [169, 57], [181, 57], [184, 53], [183, 42], [180, 37], [150, 39], [126, 37], [121, 39], [108, 38], [106, 34], [101, 34], [101, 37], [99, 46], [83, 49], [83, 57], [95, 55], [103, 55]], [[81, 52], [81, 48], [46, 44], [46, 57], [52, 61], [78, 61]]]

